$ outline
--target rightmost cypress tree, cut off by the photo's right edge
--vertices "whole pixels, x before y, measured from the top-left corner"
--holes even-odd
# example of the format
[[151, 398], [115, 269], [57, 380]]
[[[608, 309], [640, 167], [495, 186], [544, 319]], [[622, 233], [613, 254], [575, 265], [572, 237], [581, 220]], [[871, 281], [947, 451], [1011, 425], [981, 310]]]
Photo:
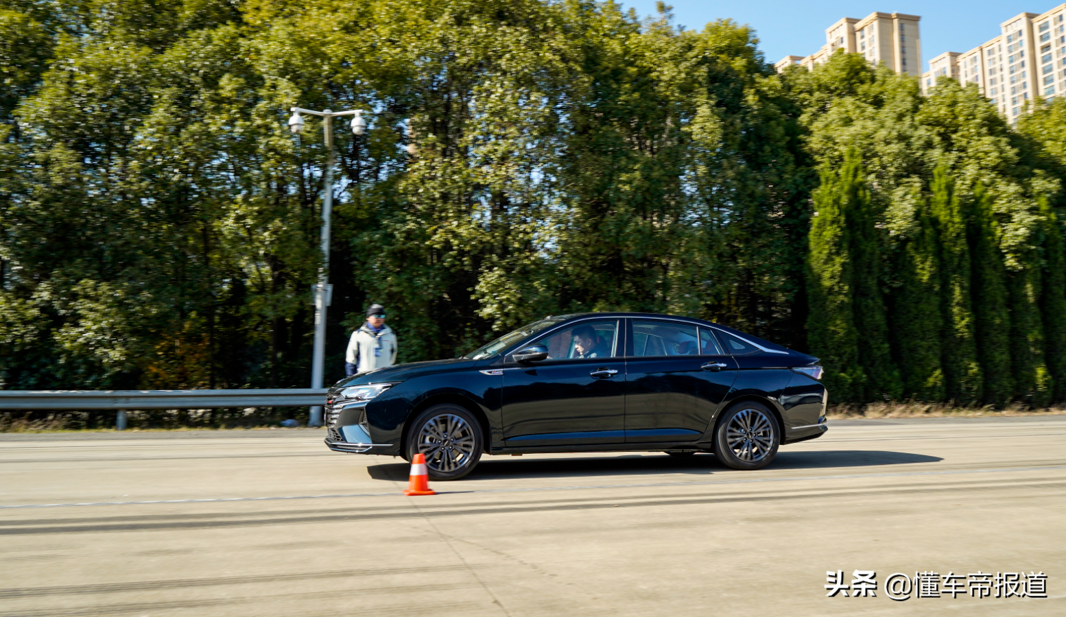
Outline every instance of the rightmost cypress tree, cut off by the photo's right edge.
[[1044, 218], [1044, 348], [1048, 372], [1054, 385], [1052, 400], [1066, 401], [1066, 254], [1059, 217], [1040, 198]]

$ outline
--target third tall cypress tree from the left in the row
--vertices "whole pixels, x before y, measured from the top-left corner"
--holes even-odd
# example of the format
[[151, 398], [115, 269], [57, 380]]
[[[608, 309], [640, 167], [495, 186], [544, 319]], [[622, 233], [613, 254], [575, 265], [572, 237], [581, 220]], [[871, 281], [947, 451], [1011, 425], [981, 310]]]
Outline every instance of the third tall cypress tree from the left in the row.
[[906, 197], [914, 220], [900, 241], [895, 264], [899, 290], [893, 294], [892, 332], [897, 344], [903, 395], [919, 401], [941, 401], [944, 395], [940, 367], [940, 267], [936, 230], [920, 186]]

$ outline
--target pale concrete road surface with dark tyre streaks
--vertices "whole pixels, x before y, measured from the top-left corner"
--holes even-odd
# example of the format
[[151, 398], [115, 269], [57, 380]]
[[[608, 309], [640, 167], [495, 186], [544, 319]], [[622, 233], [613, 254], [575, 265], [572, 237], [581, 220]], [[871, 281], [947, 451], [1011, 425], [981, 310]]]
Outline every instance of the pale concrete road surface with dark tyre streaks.
[[[1066, 416], [830, 425], [761, 471], [485, 457], [419, 498], [322, 431], [0, 435], [0, 616], [1066, 615]], [[886, 596], [916, 571], [1048, 597]]]

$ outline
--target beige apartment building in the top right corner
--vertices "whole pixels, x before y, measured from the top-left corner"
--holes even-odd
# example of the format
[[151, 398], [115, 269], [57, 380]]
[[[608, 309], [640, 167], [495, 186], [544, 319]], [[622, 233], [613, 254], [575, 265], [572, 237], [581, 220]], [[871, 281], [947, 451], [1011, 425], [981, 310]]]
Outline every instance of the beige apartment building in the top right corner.
[[1032, 98], [1066, 96], [1066, 4], [1016, 15], [1000, 25], [996, 38], [934, 58], [922, 74], [922, 92], [943, 76], [976, 84], [1012, 121]]

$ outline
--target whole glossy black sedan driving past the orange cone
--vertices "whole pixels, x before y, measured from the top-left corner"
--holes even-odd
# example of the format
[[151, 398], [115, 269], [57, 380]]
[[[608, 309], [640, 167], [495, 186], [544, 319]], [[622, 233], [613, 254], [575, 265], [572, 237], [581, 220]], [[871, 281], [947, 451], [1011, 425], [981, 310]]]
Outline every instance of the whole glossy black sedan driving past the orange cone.
[[353, 375], [329, 389], [326, 445], [425, 455], [456, 480], [482, 454], [713, 452], [759, 469], [826, 431], [818, 358], [701, 320], [548, 316], [462, 358]]

